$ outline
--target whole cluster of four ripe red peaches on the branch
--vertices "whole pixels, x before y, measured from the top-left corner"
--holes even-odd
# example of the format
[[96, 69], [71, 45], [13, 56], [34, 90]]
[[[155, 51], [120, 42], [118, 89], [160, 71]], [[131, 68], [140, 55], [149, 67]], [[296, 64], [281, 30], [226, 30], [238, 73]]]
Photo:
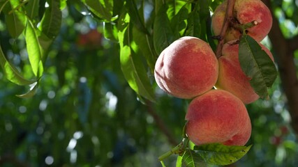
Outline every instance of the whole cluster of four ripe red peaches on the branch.
[[[221, 31], [226, 8], [227, 1], [223, 1], [214, 11], [214, 35]], [[269, 33], [272, 17], [262, 1], [236, 0], [233, 11], [237, 24], [258, 22], [246, 29], [246, 34], [256, 41], [260, 42]], [[258, 100], [259, 96], [239, 64], [236, 41], [240, 36], [239, 29], [230, 25], [219, 58], [207, 42], [185, 36], [164, 49], [156, 61], [154, 76], [158, 86], [174, 97], [191, 99], [186, 113], [186, 134], [195, 145], [245, 145], [251, 136], [251, 120], [245, 104]], [[260, 46], [273, 60], [270, 51]]]

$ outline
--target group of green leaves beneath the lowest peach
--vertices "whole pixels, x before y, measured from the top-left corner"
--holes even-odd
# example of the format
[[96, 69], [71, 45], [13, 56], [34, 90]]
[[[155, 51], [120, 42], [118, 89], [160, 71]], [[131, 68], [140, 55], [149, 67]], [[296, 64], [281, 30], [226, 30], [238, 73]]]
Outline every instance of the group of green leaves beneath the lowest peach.
[[165, 166], [163, 160], [167, 158], [167, 156], [170, 156], [170, 154], [178, 154], [176, 166], [195, 167], [208, 166], [210, 164], [225, 166], [241, 159], [251, 148], [251, 145], [246, 147], [209, 143], [195, 145], [193, 149], [191, 149], [188, 142], [188, 138], [184, 138], [184, 140], [170, 150], [170, 152], [166, 152], [159, 157], [161, 164]]

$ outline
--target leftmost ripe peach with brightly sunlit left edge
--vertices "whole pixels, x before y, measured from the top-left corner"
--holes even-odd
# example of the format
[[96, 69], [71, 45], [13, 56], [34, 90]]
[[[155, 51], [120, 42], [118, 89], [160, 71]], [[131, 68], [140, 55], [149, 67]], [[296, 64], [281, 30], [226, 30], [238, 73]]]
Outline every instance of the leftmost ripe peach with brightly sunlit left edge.
[[191, 99], [214, 86], [218, 61], [207, 42], [185, 36], [162, 51], [156, 61], [154, 76], [166, 93]]

